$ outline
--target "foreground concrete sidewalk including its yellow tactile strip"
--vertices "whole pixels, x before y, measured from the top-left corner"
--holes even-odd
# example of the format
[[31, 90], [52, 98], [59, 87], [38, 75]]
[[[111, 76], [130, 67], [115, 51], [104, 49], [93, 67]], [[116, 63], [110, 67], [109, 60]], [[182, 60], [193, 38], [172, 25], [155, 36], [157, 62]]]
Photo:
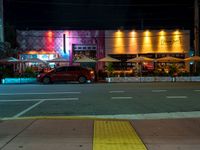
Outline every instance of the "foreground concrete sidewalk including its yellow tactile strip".
[[[139, 144], [136, 143], [137, 150], [200, 149], [200, 119], [100, 120], [104, 123], [95, 125], [98, 121], [65, 119], [1, 121], [0, 150], [96, 150], [101, 149], [102, 144], [106, 146], [104, 150], [115, 150], [111, 147], [111, 143], [122, 146], [120, 150], [128, 150], [127, 146], [130, 148], [135, 145], [130, 141], [128, 133], [130, 131], [126, 131], [127, 126], [121, 128], [123, 125], [120, 124], [121, 122], [130, 124], [133, 132], [137, 133], [135, 136], [139, 136], [143, 142], [144, 146], [138, 149], [136, 146]], [[117, 123], [119, 126], [105, 131], [110, 122]], [[110, 124], [110, 127], [114, 125]], [[95, 131], [98, 128], [101, 128], [100, 134], [108, 133], [99, 135]], [[115, 140], [118, 138], [120, 140]], [[94, 144], [96, 141], [97, 146]], [[116, 143], [117, 141], [119, 143]], [[99, 148], [98, 144], [101, 144]]]

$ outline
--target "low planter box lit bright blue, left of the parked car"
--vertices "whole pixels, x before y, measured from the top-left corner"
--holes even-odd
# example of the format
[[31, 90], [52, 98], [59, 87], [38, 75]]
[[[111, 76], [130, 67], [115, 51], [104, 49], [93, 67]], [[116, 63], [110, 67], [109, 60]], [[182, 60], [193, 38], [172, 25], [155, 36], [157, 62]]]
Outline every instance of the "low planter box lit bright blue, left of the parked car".
[[36, 78], [4, 78], [2, 84], [28, 84], [37, 83]]

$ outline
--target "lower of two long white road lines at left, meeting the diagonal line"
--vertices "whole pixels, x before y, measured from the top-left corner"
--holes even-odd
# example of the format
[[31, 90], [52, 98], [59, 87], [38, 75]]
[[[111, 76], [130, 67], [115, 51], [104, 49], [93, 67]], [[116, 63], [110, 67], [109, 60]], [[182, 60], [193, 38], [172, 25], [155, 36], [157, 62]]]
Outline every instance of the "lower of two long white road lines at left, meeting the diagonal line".
[[0, 100], [0, 102], [30, 102], [30, 101], [77, 101], [79, 98], [51, 98], [51, 99], [18, 99], [18, 100]]

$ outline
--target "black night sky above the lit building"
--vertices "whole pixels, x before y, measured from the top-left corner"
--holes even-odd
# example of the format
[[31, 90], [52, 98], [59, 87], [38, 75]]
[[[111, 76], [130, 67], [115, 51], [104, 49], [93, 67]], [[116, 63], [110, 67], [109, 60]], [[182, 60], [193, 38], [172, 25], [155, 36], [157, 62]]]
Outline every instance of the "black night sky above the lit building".
[[4, 0], [4, 13], [17, 29], [193, 29], [194, 0], [185, 1]]

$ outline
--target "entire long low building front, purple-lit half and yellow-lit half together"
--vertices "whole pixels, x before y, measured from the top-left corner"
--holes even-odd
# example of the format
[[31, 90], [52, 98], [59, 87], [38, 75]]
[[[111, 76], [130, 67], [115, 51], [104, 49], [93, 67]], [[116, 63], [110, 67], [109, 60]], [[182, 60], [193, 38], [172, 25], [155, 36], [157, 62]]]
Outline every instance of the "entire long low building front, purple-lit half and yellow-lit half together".
[[[173, 56], [185, 58], [189, 55], [190, 32], [188, 30], [153, 31], [17, 31], [17, 41], [26, 54], [35, 50], [34, 57], [50, 60], [55, 57], [69, 60], [70, 65], [83, 56], [99, 59], [110, 55], [121, 60], [113, 63], [115, 69], [128, 70], [134, 67], [127, 60], [136, 56], [161, 58]], [[49, 55], [41, 55], [40, 50]], [[55, 55], [51, 55], [53, 52]], [[22, 56], [22, 57], [25, 57]], [[29, 57], [29, 56], [26, 56]], [[104, 63], [97, 63], [96, 69], [103, 69]], [[146, 64], [152, 68], [151, 64]]]

